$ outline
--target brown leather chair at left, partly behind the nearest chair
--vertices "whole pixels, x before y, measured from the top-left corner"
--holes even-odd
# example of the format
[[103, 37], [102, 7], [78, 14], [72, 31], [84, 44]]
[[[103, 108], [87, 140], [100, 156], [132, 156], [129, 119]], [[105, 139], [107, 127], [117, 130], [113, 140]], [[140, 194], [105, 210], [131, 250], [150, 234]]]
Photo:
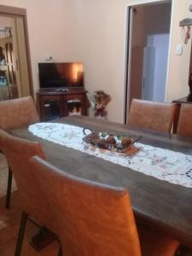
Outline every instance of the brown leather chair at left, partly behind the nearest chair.
[[32, 165], [28, 161], [32, 155], [44, 158], [44, 153], [39, 143], [13, 137], [1, 129], [0, 149], [14, 173], [23, 210], [15, 250], [15, 256], [19, 256], [28, 218], [34, 219], [38, 224], [44, 225], [49, 230], [57, 233], [51, 208], [48, 207], [46, 197], [38, 186], [38, 180], [33, 175]]

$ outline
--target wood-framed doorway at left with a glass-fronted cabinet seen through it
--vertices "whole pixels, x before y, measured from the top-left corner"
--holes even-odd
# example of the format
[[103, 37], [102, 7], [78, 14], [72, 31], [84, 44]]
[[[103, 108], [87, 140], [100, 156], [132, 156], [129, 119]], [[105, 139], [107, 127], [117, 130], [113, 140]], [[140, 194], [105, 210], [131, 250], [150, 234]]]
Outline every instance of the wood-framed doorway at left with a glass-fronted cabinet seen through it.
[[0, 5], [0, 100], [33, 96], [26, 10]]

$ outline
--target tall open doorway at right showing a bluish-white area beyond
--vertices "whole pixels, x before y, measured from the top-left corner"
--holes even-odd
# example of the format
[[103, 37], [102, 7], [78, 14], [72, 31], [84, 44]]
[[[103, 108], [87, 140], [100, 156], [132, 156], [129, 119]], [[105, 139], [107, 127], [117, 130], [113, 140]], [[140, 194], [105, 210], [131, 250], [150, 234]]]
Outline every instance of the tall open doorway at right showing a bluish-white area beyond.
[[165, 102], [172, 2], [129, 8], [125, 123], [133, 98]]

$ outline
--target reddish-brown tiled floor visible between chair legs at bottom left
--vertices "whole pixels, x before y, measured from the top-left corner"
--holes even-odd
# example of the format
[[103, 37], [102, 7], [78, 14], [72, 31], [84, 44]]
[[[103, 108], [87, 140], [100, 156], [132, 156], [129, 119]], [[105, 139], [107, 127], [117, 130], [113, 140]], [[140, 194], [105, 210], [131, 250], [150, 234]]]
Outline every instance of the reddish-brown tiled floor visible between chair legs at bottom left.
[[[14, 185], [15, 191], [12, 193], [11, 207], [6, 210], [5, 194], [7, 185], [7, 164], [0, 154], [0, 256], [14, 256], [16, 237], [19, 230], [21, 208], [20, 197]], [[41, 253], [37, 253], [29, 244], [32, 236], [38, 233], [38, 228], [28, 221], [26, 234], [22, 247], [22, 256], [55, 256], [58, 254], [59, 244], [54, 241], [49, 247], [44, 248]]]

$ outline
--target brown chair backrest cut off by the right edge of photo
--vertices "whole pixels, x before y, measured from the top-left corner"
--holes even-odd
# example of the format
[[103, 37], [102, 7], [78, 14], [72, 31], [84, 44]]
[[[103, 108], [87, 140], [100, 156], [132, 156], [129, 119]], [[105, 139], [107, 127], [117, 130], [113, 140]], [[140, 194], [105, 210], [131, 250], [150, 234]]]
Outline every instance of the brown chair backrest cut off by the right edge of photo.
[[181, 104], [177, 135], [192, 137], [192, 104]]

